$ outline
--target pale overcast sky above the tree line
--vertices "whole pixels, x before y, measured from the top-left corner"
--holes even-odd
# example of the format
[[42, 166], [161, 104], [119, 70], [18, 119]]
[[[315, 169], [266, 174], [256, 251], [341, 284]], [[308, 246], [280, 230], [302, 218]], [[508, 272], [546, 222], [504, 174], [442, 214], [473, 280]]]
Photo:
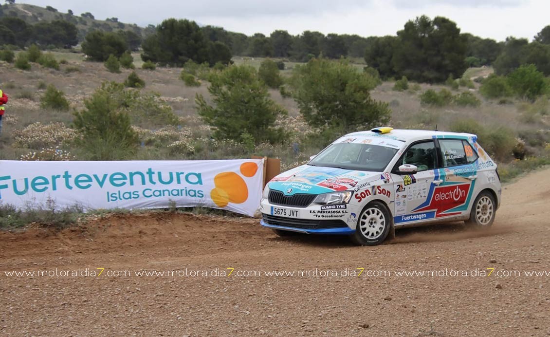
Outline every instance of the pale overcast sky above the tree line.
[[252, 35], [273, 30], [300, 34], [317, 30], [324, 34], [361, 36], [395, 35], [409, 19], [426, 14], [456, 22], [462, 32], [504, 40], [507, 36], [529, 40], [550, 25], [549, 0], [16, 0], [77, 15], [91, 12], [96, 19], [117, 17], [124, 23], [157, 25], [167, 18], [195, 20], [202, 25]]

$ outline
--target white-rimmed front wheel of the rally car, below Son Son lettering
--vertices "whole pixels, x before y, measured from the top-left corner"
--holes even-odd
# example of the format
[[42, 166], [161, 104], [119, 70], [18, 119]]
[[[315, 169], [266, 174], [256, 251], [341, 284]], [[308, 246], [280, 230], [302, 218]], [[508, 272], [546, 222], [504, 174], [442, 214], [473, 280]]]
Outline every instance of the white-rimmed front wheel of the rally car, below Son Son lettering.
[[386, 240], [392, 229], [392, 217], [386, 205], [379, 201], [368, 203], [361, 211], [351, 241], [359, 246], [376, 246]]

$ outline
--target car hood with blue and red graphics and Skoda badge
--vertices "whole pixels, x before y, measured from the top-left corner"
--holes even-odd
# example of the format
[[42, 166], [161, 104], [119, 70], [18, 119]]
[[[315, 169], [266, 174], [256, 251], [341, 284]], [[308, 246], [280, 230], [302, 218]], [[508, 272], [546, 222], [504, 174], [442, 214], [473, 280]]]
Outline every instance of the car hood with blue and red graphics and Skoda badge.
[[347, 191], [356, 186], [383, 179], [381, 172], [345, 170], [344, 168], [303, 165], [274, 177], [268, 186], [285, 195], [322, 194]]

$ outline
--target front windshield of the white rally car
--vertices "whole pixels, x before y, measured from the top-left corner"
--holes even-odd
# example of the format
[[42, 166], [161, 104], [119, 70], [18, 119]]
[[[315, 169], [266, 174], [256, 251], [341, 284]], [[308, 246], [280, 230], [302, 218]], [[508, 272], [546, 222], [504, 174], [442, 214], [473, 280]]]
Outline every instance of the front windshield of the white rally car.
[[382, 172], [397, 149], [357, 143], [338, 143], [328, 146], [308, 165], [345, 168], [346, 170]]

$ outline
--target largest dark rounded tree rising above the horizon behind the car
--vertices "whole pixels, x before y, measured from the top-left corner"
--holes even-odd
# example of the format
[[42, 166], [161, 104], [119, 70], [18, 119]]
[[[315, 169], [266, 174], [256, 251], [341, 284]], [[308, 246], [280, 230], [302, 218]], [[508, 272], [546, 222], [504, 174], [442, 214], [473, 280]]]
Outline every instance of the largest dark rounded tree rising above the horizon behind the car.
[[466, 37], [456, 24], [443, 17], [422, 15], [397, 32], [392, 65], [409, 80], [441, 83], [450, 75], [459, 78], [466, 70]]

